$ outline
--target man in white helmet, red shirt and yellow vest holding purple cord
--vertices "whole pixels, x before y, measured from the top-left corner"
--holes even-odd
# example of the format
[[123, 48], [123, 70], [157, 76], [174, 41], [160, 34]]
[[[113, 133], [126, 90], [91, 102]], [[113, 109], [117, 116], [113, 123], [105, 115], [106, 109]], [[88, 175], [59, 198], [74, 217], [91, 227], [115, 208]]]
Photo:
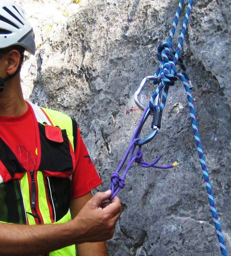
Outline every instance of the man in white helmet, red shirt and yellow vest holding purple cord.
[[0, 255], [73, 256], [77, 244], [79, 256], [105, 256], [120, 200], [105, 202], [110, 190], [92, 197], [101, 180], [76, 122], [23, 99], [24, 50], [35, 54], [33, 29], [20, 7], [1, 1]]

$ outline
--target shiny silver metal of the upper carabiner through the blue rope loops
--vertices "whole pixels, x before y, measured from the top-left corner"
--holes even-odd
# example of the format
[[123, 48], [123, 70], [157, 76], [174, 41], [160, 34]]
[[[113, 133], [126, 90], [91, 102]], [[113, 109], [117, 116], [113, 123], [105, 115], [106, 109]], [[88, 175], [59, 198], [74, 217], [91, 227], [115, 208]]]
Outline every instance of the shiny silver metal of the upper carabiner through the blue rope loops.
[[[143, 80], [141, 81], [138, 89], [135, 91], [134, 93], [134, 101], [136, 103], [136, 105], [144, 111], [145, 106], [140, 102], [140, 94], [143, 91], [144, 87], [146, 86], [146, 84], [148, 83], [148, 81], [150, 80], [155, 80], [156, 77], [155, 76], [146, 76], [143, 78]], [[156, 100], [155, 100], [155, 105], [160, 105], [160, 100], [161, 100], [161, 92], [157, 95]], [[153, 112], [150, 111], [149, 115], [153, 116]]]

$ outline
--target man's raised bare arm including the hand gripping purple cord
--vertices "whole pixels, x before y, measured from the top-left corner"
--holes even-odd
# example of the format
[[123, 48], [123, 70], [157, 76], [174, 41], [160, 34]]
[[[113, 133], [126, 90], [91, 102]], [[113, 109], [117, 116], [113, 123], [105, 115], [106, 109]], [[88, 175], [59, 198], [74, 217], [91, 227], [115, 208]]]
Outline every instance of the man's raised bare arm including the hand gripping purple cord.
[[121, 203], [111, 191], [98, 192], [70, 222], [49, 225], [16, 225], [0, 223], [1, 256], [37, 256], [71, 244], [98, 242], [113, 237], [115, 223], [121, 214]]

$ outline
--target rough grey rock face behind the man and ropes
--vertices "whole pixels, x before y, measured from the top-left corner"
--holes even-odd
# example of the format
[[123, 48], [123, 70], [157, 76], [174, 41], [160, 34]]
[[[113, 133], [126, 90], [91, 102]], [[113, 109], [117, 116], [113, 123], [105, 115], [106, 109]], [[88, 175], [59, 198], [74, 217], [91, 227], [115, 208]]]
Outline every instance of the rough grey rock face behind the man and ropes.
[[[24, 64], [25, 97], [77, 120], [103, 180], [98, 190], [103, 191], [141, 116], [133, 93], [158, 67], [156, 49], [168, 37], [178, 1], [15, 2], [23, 2], [30, 13], [38, 44], [36, 56]], [[195, 1], [182, 52], [228, 254], [230, 5], [229, 0]], [[178, 35], [179, 29], [175, 46]], [[155, 88], [144, 90], [146, 104]], [[187, 104], [178, 81], [169, 90], [161, 130], [143, 146], [143, 153], [149, 161], [161, 154], [161, 164], [178, 161], [179, 167], [159, 171], [132, 166], [119, 194], [124, 211], [108, 241], [110, 256], [220, 255]], [[143, 136], [149, 134], [150, 124], [151, 119]]]

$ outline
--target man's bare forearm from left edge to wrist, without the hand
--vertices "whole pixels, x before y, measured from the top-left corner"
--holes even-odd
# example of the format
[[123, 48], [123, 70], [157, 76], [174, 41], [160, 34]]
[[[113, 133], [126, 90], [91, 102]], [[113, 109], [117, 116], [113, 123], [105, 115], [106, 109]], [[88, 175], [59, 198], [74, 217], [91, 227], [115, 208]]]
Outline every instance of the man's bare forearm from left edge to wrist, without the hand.
[[0, 223], [0, 231], [2, 256], [38, 256], [71, 245], [73, 239], [70, 223], [36, 226]]

